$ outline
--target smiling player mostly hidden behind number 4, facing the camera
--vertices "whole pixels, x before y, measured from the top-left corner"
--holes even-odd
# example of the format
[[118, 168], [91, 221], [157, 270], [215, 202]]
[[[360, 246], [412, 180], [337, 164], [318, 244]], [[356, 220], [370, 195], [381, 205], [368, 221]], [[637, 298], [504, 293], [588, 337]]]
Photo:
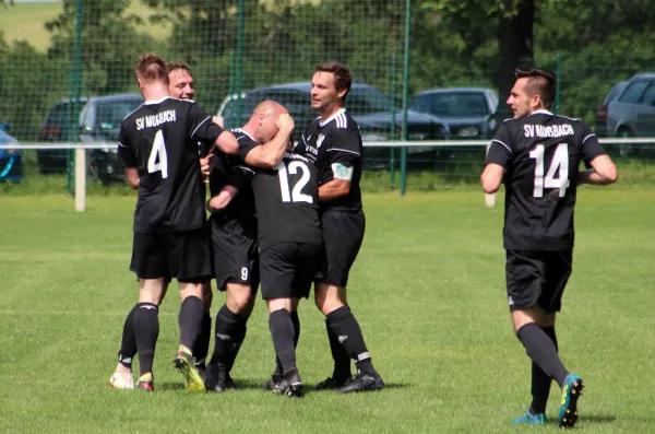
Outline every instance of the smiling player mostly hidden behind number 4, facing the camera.
[[[167, 62], [166, 72], [168, 73], [168, 92], [170, 97], [178, 99], [193, 99], [193, 96], [195, 95], [195, 86], [191, 68], [183, 62]], [[212, 120], [216, 122], [218, 119], [212, 118]], [[209, 143], [199, 143], [199, 146], [201, 146], [201, 156], [203, 156], [202, 154], [206, 153], [211, 148]], [[204, 160], [205, 164], [209, 164], [209, 160], [206, 157]], [[167, 286], [168, 282], [166, 282], [164, 293], [162, 294], [163, 297], [165, 296]], [[212, 285], [209, 281], [203, 282], [202, 290], [204, 313], [201, 320], [200, 333], [192, 349], [194, 360], [199, 361], [195, 363], [195, 366], [201, 377], [204, 376], [204, 359], [207, 355], [210, 339], [212, 336], [212, 317], [210, 315], [210, 308], [212, 307], [213, 295]], [[118, 352], [118, 364], [114, 374], [111, 375], [111, 378], [109, 378], [109, 386], [114, 388], [134, 388], [134, 379], [132, 378], [132, 360], [134, 359], [134, 355], [136, 355], [134, 314], [136, 313], [138, 306], [139, 304], [134, 305], [132, 310], [130, 310], [126, 317], [126, 321], [123, 324], [122, 340], [120, 351]]]

